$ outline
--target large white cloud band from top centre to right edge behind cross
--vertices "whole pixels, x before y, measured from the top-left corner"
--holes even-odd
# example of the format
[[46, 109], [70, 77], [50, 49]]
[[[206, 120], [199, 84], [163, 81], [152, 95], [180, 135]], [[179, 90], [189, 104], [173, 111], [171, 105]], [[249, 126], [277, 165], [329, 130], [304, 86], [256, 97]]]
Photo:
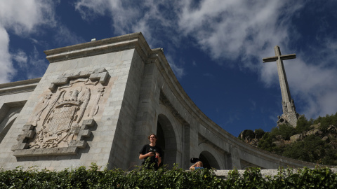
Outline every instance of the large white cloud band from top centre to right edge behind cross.
[[[160, 44], [160, 38], [156, 36], [161, 35], [169, 36], [176, 47], [179, 47], [181, 38], [192, 38], [197, 42], [196, 46], [208, 52], [211, 58], [221, 60], [219, 64], [256, 72], [266, 87], [278, 87], [279, 80], [276, 63], [263, 64], [262, 58], [274, 56], [274, 46], [279, 45], [283, 54], [298, 55], [297, 59], [288, 60], [289, 64], [286, 62], [285, 65], [291, 94], [306, 106], [303, 108], [305, 112], [300, 113], [315, 118], [336, 111], [337, 85], [334, 81], [337, 78], [334, 73], [337, 69], [334, 59], [337, 40], [333, 36], [317, 36], [316, 40], [322, 46], [311, 48], [317, 57], [324, 57], [319, 59], [320, 62], [313, 62], [302, 52], [289, 49], [289, 38], [300, 38], [292, 19], [305, 3], [308, 2], [81, 0], [77, 1], [76, 8], [88, 20], [97, 15], [110, 16], [115, 34], [143, 31], [150, 46]], [[166, 57], [170, 55], [166, 54]], [[231, 61], [223, 61], [228, 59]], [[170, 65], [176, 76], [184, 76], [183, 64], [172, 62], [173, 59]]]

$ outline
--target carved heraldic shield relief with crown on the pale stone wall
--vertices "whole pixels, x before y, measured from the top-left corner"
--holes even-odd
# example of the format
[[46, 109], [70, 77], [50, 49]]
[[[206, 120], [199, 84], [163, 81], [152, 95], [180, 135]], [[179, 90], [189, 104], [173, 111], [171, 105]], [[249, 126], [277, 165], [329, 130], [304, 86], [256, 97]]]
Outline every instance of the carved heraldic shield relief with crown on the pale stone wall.
[[[42, 95], [18, 137], [12, 151], [17, 157], [36, 155], [71, 155], [86, 147], [88, 127], [102, 114], [103, 94], [111, 86], [105, 69], [68, 74], [52, 83]], [[112, 83], [112, 82], [110, 82]], [[107, 96], [107, 95], [106, 95]], [[96, 116], [97, 115], [97, 116]]]

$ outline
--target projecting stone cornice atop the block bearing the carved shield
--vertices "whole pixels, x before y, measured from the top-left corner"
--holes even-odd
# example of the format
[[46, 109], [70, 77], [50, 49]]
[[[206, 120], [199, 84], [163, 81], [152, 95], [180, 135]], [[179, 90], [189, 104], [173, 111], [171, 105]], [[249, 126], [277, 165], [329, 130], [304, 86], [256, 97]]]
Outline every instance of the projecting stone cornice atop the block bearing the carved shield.
[[67, 59], [100, 55], [108, 52], [117, 52], [132, 48], [135, 48], [143, 59], [146, 59], [151, 52], [151, 49], [145, 41], [143, 34], [141, 32], [137, 32], [124, 36], [105, 38], [88, 43], [71, 45], [63, 48], [45, 50], [44, 53], [47, 56], [46, 59], [53, 63]]

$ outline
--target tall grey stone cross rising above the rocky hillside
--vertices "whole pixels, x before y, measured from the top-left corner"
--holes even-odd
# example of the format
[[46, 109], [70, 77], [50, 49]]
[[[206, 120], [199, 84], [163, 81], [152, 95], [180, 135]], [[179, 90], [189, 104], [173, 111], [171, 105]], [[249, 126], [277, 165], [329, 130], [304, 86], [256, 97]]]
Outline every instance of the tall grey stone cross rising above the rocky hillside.
[[277, 73], [279, 73], [279, 86], [281, 87], [282, 93], [282, 118], [284, 118], [286, 122], [293, 125], [293, 127], [296, 127], [298, 113], [296, 113], [295, 104], [293, 103], [293, 99], [291, 99], [288, 81], [286, 80], [286, 71], [284, 70], [283, 65], [284, 59], [294, 59], [296, 58], [296, 54], [281, 55], [281, 50], [279, 50], [279, 46], [277, 45], [275, 46], [274, 50], [276, 56], [263, 58], [263, 63], [276, 61]]

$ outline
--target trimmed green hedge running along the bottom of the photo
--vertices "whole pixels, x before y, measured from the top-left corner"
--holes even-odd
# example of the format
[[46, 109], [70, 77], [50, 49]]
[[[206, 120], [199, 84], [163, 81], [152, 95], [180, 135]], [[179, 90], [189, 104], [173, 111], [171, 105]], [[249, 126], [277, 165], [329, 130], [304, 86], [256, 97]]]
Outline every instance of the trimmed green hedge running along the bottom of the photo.
[[99, 171], [79, 167], [60, 172], [37, 171], [22, 167], [0, 170], [0, 188], [337, 188], [337, 174], [329, 168], [279, 169], [276, 176], [263, 178], [258, 168], [246, 169], [243, 175], [232, 170], [218, 178], [213, 170], [194, 172], [174, 167], [158, 171], [121, 169]]

